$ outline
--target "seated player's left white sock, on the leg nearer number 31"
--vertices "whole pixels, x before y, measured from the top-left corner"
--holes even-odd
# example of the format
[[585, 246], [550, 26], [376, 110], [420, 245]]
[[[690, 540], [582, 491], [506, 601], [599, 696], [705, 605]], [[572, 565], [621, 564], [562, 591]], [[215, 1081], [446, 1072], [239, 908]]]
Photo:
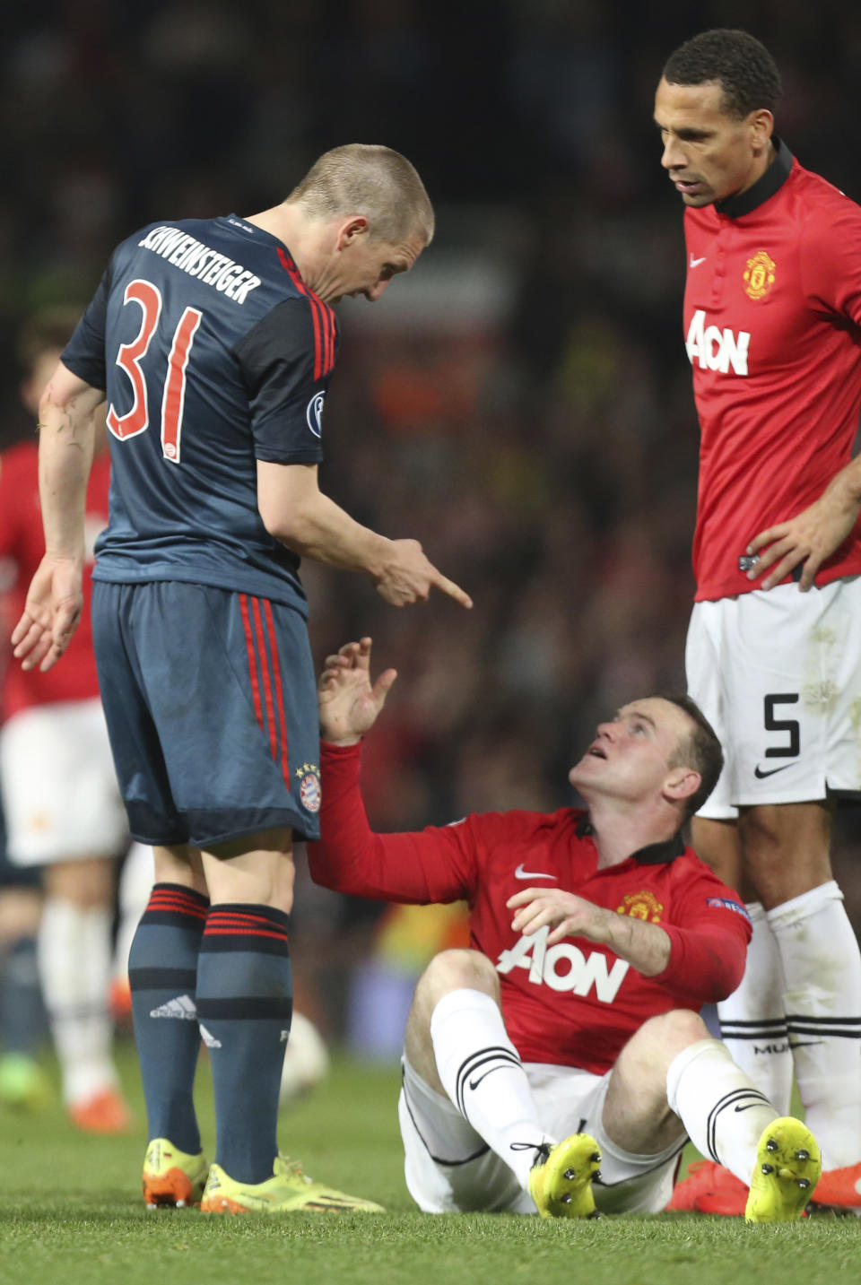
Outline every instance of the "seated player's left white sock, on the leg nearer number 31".
[[528, 1191], [535, 1148], [547, 1140], [496, 1001], [464, 987], [445, 995], [430, 1040], [446, 1094]]

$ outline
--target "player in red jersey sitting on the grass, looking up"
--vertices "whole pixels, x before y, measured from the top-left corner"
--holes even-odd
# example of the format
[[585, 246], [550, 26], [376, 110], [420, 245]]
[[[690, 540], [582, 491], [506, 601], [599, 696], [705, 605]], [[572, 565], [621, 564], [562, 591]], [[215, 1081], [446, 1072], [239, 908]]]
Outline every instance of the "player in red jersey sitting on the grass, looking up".
[[359, 743], [395, 677], [371, 686], [370, 639], [326, 660], [308, 861], [342, 892], [469, 902], [470, 948], [433, 959], [406, 1027], [398, 1113], [416, 1204], [657, 1213], [690, 1135], [750, 1182], [749, 1221], [801, 1217], [812, 1133], [779, 1118], [698, 1014], [736, 986], [750, 926], [679, 834], [722, 763], [697, 705], [648, 696], [601, 723], [569, 774], [587, 811], [374, 834]]

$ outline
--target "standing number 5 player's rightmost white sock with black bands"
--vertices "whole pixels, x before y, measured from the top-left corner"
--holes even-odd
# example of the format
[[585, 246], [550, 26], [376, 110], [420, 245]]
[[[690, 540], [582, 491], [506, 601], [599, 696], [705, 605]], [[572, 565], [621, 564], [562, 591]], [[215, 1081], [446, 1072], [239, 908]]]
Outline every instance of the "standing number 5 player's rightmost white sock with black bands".
[[861, 1160], [861, 952], [834, 880], [767, 914], [798, 1094], [826, 1169]]

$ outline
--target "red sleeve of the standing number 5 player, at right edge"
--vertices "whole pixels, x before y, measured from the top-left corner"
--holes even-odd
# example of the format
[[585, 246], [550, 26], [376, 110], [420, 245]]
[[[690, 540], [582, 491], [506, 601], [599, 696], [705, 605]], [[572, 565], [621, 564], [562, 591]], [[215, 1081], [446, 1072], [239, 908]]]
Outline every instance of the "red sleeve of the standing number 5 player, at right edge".
[[811, 217], [801, 240], [802, 287], [815, 311], [861, 326], [861, 207], [842, 200]]

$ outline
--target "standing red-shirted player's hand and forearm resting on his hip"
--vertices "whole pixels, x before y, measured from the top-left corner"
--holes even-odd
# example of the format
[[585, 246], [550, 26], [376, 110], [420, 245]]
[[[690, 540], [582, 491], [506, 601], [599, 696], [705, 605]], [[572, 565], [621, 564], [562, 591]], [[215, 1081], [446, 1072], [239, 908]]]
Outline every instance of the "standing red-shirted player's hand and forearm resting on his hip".
[[831, 478], [819, 500], [789, 522], [761, 531], [750, 541], [745, 553], [759, 554], [759, 558], [748, 572], [748, 580], [757, 580], [767, 571], [759, 587], [771, 589], [803, 563], [798, 587], [806, 592], [822, 563], [851, 533], [860, 509], [861, 456], [857, 456]]

